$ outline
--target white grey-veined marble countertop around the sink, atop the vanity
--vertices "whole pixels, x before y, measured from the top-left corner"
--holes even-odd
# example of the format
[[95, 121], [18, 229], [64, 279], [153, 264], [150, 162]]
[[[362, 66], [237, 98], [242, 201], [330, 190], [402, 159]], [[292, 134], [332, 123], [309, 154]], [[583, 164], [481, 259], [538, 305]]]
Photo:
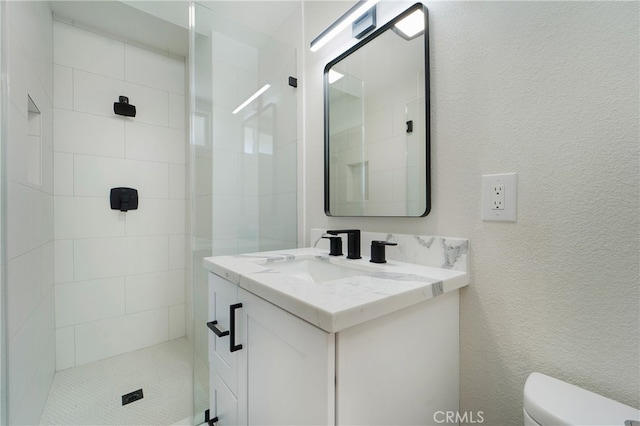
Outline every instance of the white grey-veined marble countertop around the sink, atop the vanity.
[[[314, 283], [278, 272], [274, 262], [314, 259], [362, 269], [362, 274]], [[205, 258], [204, 267], [241, 288], [327, 331], [381, 317], [469, 283], [463, 271], [363, 257], [348, 260], [327, 250], [301, 248]]]

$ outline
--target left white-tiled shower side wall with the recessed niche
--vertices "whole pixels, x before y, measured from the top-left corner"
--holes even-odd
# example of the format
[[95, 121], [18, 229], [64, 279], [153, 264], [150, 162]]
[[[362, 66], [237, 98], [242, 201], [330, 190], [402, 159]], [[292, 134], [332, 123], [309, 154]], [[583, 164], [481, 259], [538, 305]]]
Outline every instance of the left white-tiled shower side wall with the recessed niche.
[[52, 22], [46, 2], [5, 5], [8, 424], [37, 424], [55, 372]]

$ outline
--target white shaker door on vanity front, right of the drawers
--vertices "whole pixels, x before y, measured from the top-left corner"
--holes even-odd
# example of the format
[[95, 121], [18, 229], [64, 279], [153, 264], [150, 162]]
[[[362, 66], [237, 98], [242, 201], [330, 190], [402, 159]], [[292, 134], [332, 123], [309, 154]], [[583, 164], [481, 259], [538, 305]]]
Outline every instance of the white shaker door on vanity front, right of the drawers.
[[240, 362], [247, 366], [246, 377], [240, 370], [238, 399], [246, 401], [246, 423], [333, 425], [334, 334], [243, 289], [238, 293], [246, 341]]

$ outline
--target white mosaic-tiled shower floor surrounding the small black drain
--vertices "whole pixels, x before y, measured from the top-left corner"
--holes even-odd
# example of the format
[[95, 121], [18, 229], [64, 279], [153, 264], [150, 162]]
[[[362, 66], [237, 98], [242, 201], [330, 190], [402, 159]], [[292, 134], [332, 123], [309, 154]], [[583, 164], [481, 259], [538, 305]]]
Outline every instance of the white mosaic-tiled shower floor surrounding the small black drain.
[[[58, 371], [42, 425], [190, 424], [191, 347], [186, 338]], [[122, 395], [142, 389], [125, 406]]]

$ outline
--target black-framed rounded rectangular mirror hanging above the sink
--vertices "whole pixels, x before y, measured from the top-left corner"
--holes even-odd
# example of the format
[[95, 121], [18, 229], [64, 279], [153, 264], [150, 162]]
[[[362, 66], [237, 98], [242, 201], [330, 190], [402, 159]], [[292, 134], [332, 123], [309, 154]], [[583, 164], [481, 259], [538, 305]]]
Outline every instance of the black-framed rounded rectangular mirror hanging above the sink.
[[418, 3], [325, 67], [328, 216], [429, 213], [428, 34]]

